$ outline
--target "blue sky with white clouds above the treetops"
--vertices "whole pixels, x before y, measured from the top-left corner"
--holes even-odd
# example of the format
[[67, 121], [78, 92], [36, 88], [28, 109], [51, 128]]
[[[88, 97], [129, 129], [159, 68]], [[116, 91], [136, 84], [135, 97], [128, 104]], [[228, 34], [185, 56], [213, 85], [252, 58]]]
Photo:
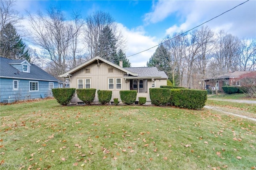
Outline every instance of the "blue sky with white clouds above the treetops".
[[[98, 10], [108, 12], [118, 23], [127, 41], [126, 56], [157, 45], [167, 34], [187, 31], [201, 23], [241, 4], [240, 0], [18, 0], [15, 9], [35, 13], [45, 12], [57, 5], [69, 16], [72, 10], [81, 11], [82, 17]], [[26, 26], [26, 21], [24, 21]], [[256, 0], [250, 0], [234, 10], [204, 24], [214, 32], [224, 29], [239, 38], [256, 38]], [[132, 66], [146, 66], [156, 48], [129, 57]]]

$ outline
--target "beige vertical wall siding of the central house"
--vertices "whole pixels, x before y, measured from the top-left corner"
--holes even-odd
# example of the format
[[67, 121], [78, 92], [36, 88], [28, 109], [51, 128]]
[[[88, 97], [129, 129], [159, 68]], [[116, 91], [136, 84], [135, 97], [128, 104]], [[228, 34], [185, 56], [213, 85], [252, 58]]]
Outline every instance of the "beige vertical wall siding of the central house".
[[[83, 79], [85, 88], [85, 79], [91, 80], [91, 88], [95, 88], [96, 90], [111, 90], [112, 91], [112, 98], [110, 102], [114, 101], [114, 98], [118, 98], [118, 101], [121, 102], [120, 99], [120, 90], [130, 90], [130, 80], [125, 80], [124, 74], [127, 74], [126, 72], [119, 70], [118, 68], [115, 68], [107, 63], [100, 63], [100, 66], [97, 66], [97, 61], [95, 61], [92, 64], [89, 64], [88, 66], [85, 66], [84, 68], [81, 68], [77, 72], [74, 72], [72, 76], [70, 77], [70, 88], [78, 88], [78, 79]], [[109, 73], [108, 68], [113, 68], [113, 72]], [[86, 73], [86, 69], [90, 69], [90, 73]], [[87, 70], [88, 72], [88, 70]], [[108, 89], [108, 79], [114, 78], [114, 89]], [[116, 78], [121, 78], [122, 85], [121, 89], [116, 89]], [[136, 77], [134, 77], [136, 79]], [[149, 95], [149, 88], [152, 88], [152, 80], [148, 79], [148, 90], [146, 93], [137, 93], [136, 101], [138, 101], [138, 97], [146, 97], [147, 101], [150, 100]], [[155, 81], [155, 87], [160, 87], [161, 85], [166, 85], [167, 80], [161, 79]], [[82, 102], [77, 95], [74, 96], [71, 103], [77, 103]], [[98, 102], [98, 95], [97, 91], [95, 94], [95, 98], [93, 102]]]

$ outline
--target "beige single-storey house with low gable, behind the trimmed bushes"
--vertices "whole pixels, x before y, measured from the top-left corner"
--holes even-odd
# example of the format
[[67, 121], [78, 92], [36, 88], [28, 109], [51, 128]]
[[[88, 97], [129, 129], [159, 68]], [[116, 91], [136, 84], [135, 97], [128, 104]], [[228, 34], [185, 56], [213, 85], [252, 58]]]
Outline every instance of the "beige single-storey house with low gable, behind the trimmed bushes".
[[[97, 90], [112, 90], [112, 98], [120, 99], [120, 90], [137, 90], [138, 97], [146, 97], [150, 102], [149, 88], [159, 88], [167, 84], [167, 75], [156, 67], [123, 68], [122, 61], [116, 65], [101, 57], [94, 57], [85, 63], [61, 74], [60, 77], [69, 79], [70, 88], [96, 88]], [[71, 103], [82, 102], [74, 96]], [[98, 102], [97, 92], [94, 102]]]

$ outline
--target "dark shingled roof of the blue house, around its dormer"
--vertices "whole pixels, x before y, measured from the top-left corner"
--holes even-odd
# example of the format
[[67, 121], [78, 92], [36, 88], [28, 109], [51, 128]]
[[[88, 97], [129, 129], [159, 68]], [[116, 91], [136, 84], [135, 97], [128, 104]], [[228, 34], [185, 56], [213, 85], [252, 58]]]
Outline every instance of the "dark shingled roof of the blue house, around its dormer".
[[54, 76], [48, 74], [34, 64], [30, 65], [30, 73], [21, 72], [11, 65], [23, 63], [24, 61], [26, 60], [12, 60], [0, 57], [0, 77], [60, 82], [60, 80], [56, 79]]

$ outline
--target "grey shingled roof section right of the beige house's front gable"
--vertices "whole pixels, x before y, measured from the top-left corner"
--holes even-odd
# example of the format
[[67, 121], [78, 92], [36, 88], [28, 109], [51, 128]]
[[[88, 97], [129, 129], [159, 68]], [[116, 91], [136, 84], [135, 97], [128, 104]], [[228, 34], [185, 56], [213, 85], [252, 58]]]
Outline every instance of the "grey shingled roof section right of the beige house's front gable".
[[159, 71], [156, 67], [125, 67], [131, 72], [137, 72], [138, 77], [161, 77], [168, 78], [164, 71]]

